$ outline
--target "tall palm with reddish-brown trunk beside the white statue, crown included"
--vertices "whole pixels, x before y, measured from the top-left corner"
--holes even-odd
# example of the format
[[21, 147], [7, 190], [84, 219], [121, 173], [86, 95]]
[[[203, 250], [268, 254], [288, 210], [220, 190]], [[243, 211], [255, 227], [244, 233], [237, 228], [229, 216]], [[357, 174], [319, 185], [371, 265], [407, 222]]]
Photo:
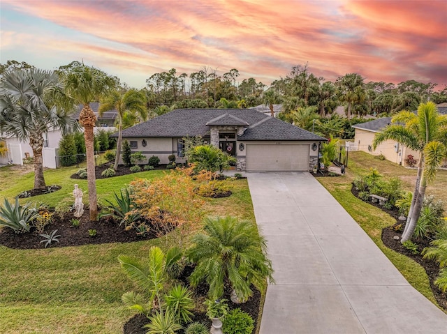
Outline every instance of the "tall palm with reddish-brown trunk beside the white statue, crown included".
[[85, 65], [73, 68], [63, 78], [68, 95], [73, 98], [75, 103], [84, 105], [79, 115], [79, 123], [84, 127], [90, 220], [96, 220], [98, 217], [98, 202], [96, 198], [93, 134], [96, 116], [91, 110], [90, 103], [105, 96], [110, 89], [115, 88], [117, 82], [101, 70]]

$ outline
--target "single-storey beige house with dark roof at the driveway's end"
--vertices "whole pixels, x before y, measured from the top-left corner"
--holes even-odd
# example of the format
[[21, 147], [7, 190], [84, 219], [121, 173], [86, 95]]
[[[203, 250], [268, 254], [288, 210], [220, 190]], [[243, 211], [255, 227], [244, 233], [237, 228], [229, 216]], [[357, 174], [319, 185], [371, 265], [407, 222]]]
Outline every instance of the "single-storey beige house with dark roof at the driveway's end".
[[156, 155], [161, 163], [168, 163], [171, 154], [184, 162], [182, 138], [200, 135], [237, 158], [238, 171], [310, 170], [317, 164], [320, 142], [326, 140], [256, 109], [175, 109], [122, 135], [132, 151], [147, 158]]

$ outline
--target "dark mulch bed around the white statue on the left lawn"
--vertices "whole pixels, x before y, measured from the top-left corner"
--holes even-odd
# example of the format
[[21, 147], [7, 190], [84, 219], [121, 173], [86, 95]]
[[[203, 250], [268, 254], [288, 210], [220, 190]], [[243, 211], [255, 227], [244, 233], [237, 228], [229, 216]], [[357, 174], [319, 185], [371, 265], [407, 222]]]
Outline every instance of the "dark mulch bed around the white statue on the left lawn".
[[[59, 243], [54, 242], [48, 248], [80, 246], [99, 243], [131, 243], [134, 241], [149, 240], [156, 238], [156, 234], [138, 236], [135, 230], [124, 231], [119, 223], [113, 218], [103, 218], [97, 222], [90, 221], [89, 210], [86, 209], [80, 220], [78, 227], [72, 227], [71, 219], [75, 218], [73, 213], [68, 213], [61, 219], [58, 215], [53, 215], [53, 221], [45, 227], [45, 234], [57, 229]], [[89, 236], [89, 229], [96, 229], [96, 236]], [[159, 236], [159, 235], [158, 235]], [[8, 248], [15, 249], [35, 249], [44, 248], [43, 239], [38, 233], [15, 234], [12, 229], [2, 229], [0, 231], [0, 244]]]

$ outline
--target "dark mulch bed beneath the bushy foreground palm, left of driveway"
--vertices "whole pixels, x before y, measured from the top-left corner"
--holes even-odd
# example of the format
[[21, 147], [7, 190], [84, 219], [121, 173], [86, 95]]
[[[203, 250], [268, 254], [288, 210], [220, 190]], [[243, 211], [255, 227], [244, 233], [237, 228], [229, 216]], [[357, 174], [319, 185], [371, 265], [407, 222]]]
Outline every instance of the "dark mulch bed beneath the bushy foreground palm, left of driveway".
[[[185, 285], [188, 286], [188, 277], [193, 272], [193, 266], [186, 266], [182, 275], [179, 277], [179, 280]], [[261, 292], [256, 290], [255, 287], [251, 287], [253, 290], [253, 296], [249, 298], [249, 301], [242, 304], [235, 304], [230, 300], [230, 288], [226, 287], [226, 293], [222, 298], [228, 300], [228, 307], [230, 310], [235, 308], [240, 308], [242, 311], [247, 312], [254, 319], [254, 330], [253, 333], [256, 332], [256, 326], [258, 322], [258, 314], [259, 314], [259, 305], [261, 303]], [[205, 301], [208, 292], [208, 285], [206, 283], [201, 283], [196, 289], [193, 289], [193, 294], [195, 296], [194, 299], [199, 301]], [[192, 317], [193, 321], [198, 321], [206, 326], [211, 326], [211, 320], [207, 317], [205, 313], [196, 313]], [[124, 334], [145, 334], [145, 328], [142, 328], [145, 324], [148, 324], [149, 321], [144, 315], [135, 315], [129, 321], [124, 324]], [[184, 331], [179, 331], [179, 334], [184, 334]]]

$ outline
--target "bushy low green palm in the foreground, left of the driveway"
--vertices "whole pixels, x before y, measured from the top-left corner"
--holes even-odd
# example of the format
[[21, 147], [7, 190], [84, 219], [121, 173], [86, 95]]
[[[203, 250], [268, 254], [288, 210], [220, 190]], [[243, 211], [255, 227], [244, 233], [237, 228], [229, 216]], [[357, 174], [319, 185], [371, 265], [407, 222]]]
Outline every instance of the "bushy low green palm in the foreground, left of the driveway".
[[209, 294], [217, 299], [225, 284], [246, 301], [251, 296], [250, 284], [258, 289], [272, 278], [272, 262], [265, 254], [266, 241], [256, 225], [234, 217], [205, 218], [206, 234], [193, 236], [188, 257], [197, 264], [189, 277], [193, 287], [205, 280]]

